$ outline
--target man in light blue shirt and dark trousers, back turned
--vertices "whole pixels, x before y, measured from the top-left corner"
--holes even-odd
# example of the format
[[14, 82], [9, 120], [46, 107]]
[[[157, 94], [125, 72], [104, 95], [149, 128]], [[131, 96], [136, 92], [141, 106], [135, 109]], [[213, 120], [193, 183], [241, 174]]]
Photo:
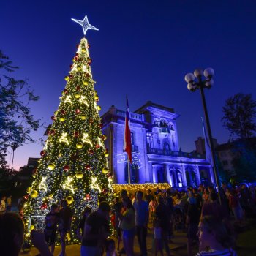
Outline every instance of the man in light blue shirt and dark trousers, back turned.
[[143, 192], [136, 192], [135, 208], [135, 230], [140, 245], [140, 254], [147, 255], [146, 236], [148, 227], [148, 203], [143, 200]]

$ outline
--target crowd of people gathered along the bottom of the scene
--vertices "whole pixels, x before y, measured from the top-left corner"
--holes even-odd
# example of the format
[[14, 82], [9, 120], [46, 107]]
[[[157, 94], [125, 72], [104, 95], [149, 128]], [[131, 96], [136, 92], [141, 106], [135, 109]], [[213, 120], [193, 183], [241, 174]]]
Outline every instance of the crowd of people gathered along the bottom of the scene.
[[[89, 207], [84, 209], [76, 230], [81, 242], [80, 255], [133, 256], [136, 237], [140, 255], [146, 256], [148, 230], [151, 230], [154, 255], [164, 255], [164, 252], [170, 255], [174, 231], [183, 231], [187, 232], [189, 256], [195, 248], [198, 248], [197, 256], [235, 256], [236, 239], [231, 223], [242, 225], [246, 217], [255, 214], [255, 188], [250, 189], [245, 184], [233, 188], [222, 184], [221, 195], [222, 204], [217, 191], [203, 185], [187, 191], [157, 189], [153, 193], [148, 189], [145, 195], [141, 191], [132, 195], [123, 189], [113, 204], [102, 200], [97, 211]], [[1, 197], [0, 252], [3, 256], [17, 256], [23, 246], [24, 225], [18, 214], [8, 212], [6, 206], [10, 201], [6, 203], [6, 199]], [[46, 214], [43, 232], [31, 230], [31, 241], [42, 256], [53, 255], [58, 233], [60, 255], [66, 255], [72, 217], [67, 200], [61, 200], [61, 209], [53, 204]], [[110, 238], [111, 235], [116, 236], [117, 242]]]

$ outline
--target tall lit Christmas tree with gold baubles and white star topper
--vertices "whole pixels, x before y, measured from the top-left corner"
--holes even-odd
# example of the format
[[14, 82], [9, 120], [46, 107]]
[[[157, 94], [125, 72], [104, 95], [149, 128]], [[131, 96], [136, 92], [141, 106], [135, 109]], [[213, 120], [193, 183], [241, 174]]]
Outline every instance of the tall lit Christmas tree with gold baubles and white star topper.
[[[87, 29], [94, 28], [89, 26]], [[108, 151], [104, 146], [106, 137], [101, 131], [89, 46], [83, 37], [65, 78], [67, 85], [59, 108], [51, 117], [53, 124], [48, 128], [34, 181], [26, 190], [23, 215], [27, 217], [24, 219], [28, 236], [29, 230], [43, 227], [44, 216], [52, 203], [59, 204], [66, 199], [75, 216], [69, 243], [77, 242], [75, 219], [81, 217], [83, 209], [89, 206], [95, 210], [101, 198], [109, 203], [112, 200]]]

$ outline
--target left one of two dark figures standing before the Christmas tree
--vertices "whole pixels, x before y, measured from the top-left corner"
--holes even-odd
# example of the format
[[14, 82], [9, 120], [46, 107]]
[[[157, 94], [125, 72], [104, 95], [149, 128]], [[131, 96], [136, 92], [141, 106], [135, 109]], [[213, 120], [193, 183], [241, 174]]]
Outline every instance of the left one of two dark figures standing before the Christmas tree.
[[45, 241], [50, 245], [50, 252], [53, 254], [55, 249], [57, 223], [59, 221], [58, 206], [53, 203], [50, 212], [45, 216]]

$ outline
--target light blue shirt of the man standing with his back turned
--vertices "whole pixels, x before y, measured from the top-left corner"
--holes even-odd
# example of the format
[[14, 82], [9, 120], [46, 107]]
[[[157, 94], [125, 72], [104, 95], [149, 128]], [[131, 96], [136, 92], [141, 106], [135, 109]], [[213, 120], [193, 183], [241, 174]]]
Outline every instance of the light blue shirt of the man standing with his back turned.
[[138, 200], [133, 203], [135, 208], [135, 226], [144, 226], [148, 224], [148, 203], [144, 200]]

